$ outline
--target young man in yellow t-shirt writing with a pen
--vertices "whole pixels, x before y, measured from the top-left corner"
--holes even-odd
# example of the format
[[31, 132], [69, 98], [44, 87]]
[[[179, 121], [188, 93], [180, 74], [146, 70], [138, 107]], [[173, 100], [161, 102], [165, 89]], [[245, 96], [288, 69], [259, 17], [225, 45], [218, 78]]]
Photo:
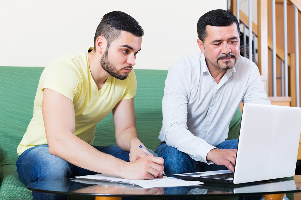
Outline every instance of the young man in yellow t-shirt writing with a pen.
[[[110, 12], [97, 27], [94, 48], [64, 55], [45, 68], [33, 118], [17, 148], [23, 183], [98, 173], [162, 177], [163, 159], [140, 149], [135, 125], [132, 66], [143, 33], [128, 14]], [[92, 146], [96, 124], [112, 110], [117, 146]], [[35, 199], [54, 199], [42, 195], [33, 192]]]

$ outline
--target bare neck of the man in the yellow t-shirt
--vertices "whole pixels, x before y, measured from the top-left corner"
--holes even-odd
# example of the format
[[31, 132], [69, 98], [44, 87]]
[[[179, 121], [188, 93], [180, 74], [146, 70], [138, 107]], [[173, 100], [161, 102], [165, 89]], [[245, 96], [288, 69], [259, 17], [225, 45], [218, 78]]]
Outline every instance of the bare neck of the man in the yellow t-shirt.
[[99, 53], [96, 53], [94, 50], [92, 50], [90, 53], [88, 53], [88, 59], [91, 75], [98, 87], [98, 90], [100, 90], [107, 78], [111, 75], [101, 67], [101, 55]]

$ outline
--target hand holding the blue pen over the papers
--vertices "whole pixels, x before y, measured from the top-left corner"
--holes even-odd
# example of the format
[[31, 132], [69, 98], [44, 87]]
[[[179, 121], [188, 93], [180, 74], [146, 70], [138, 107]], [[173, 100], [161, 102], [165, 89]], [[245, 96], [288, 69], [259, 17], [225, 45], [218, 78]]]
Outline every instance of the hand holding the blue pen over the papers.
[[132, 162], [124, 162], [120, 177], [133, 180], [162, 178], [163, 162], [163, 158], [153, 155]]

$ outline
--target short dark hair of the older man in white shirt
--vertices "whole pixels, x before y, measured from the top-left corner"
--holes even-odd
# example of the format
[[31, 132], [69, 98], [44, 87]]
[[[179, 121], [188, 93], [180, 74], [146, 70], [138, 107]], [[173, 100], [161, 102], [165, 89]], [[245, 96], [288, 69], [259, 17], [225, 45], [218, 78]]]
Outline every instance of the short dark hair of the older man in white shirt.
[[239, 33], [239, 23], [234, 14], [221, 9], [209, 11], [200, 17], [197, 22], [197, 36], [204, 42], [207, 37], [206, 26], [231, 26], [234, 22], [236, 23], [237, 31]]

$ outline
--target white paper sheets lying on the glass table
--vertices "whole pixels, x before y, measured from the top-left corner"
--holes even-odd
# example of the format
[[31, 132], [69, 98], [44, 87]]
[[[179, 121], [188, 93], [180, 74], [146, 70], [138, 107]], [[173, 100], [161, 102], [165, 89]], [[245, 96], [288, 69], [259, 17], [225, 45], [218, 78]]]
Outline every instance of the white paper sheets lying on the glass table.
[[191, 185], [203, 184], [200, 181], [182, 180], [182, 179], [166, 177], [166, 176], [163, 176], [163, 178], [154, 178], [152, 180], [130, 180], [130, 179], [113, 177], [113, 176], [106, 175], [106, 174], [79, 176], [76, 178], [85, 178], [85, 179], [92, 179], [92, 180], [93, 179], [94, 180], [106, 180], [106, 181], [112, 181], [112, 182], [116, 182], [116, 183], [134, 184], [134, 185], [138, 185], [143, 188], [176, 187], [176, 186], [191, 186]]

